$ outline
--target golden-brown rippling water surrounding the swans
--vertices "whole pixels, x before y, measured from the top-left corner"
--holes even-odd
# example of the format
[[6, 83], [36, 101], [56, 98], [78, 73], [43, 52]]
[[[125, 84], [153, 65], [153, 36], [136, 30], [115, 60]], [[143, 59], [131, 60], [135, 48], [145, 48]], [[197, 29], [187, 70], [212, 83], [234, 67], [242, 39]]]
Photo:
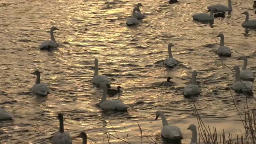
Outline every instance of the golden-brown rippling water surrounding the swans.
[[[159, 138], [162, 122], [155, 119], [156, 110], [162, 110], [169, 124], [179, 126], [184, 134], [182, 143], [190, 142], [191, 123], [197, 125], [192, 100], [184, 98], [182, 89], [190, 83], [192, 70], [198, 71], [201, 95], [195, 104], [207, 125], [216, 126], [219, 133], [225, 129], [232, 134], [243, 130], [232, 102], [228, 78], [233, 81], [231, 68], [242, 66], [236, 60], [250, 56], [248, 67], [256, 69], [255, 40], [251, 31], [244, 36], [241, 27], [248, 10], [254, 18], [252, 0], [233, 0], [230, 18], [216, 18], [214, 27], [192, 20], [191, 14], [206, 12], [206, 6], [221, 0], [180, 0], [168, 4], [165, 0], [146, 0], [141, 8], [147, 18], [137, 27], [126, 26], [137, 0], [1, 0], [0, 1], [0, 107], [15, 116], [13, 122], [0, 123], [1, 144], [49, 144], [58, 131], [57, 114], [64, 114], [65, 130], [74, 144], [81, 131], [88, 134], [90, 143], [106, 143], [108, 131], [120, 137], [128, 134], [132, 144], [140, 143], [138, 123], [143, 136]], [[3, 3], [6, 3], [5, 5]], [[59, 50], [39, 50], [41, 42], [50, 39], [49, 30], [56, 26], [54, 35]], [[232, 50], [231, 58], [220, 58], [214, 52], [220, 38]], [[168, 56], [167, 45], [172, 42], [173, 56], [180, 64], [166, 69], [162, 60]], [[213, 44], [206, 47], [206, 44]], [[128, 113], [104, 113], [96, 107], [102, 96], [90, 80], [94, 73], [94, 58], [99, 60], [99, 73], [106, 74], [112, 88], [124, 88], [120, 99], [130, 105]], [[84, 69], [82, 69], [85, 66]], [[50, 87], [46, 98], [30, 94], [40, 70], [41, 82]], [[171, 88], [157, 86], [156, 82], [171, 76]], [[243, 112], [246, 96], [234, 98]], [[253, 108], [255, 101], [248, 98]], [[110, 122], [112, 126], [110, 125]], [[148, 141], [146, 137], [144, 141]], [[112, 143], [120, 143], [112, 139]]]

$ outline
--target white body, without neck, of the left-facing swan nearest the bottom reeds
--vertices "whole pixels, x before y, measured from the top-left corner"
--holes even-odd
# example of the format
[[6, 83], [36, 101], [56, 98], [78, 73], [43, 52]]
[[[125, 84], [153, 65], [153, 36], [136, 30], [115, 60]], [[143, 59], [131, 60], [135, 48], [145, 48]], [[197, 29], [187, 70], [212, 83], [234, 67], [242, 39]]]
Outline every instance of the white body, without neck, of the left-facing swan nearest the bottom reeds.
[[180, 139], [182, 137], [182, 133], [178, 126], [164, 126], [162, 128], [161, 135], [164, 138], [169, 139]]

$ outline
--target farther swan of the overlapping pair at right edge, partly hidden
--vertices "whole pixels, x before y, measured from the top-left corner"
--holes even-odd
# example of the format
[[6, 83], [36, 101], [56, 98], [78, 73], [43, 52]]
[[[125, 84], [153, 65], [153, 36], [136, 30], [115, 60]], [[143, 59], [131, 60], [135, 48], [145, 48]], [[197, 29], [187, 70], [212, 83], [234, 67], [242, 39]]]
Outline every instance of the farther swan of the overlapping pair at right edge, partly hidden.
[[242, 70], [240, 71], [240, 78], [244, 79], [244, 80], [251, 80], [254, 81], [254, 74], [252, 71], [250, 70], [246, 70], [247, 67], [247, 57], [246, 56], [242, 56], [241, 58], [238, 58], [238, 60], [243, 60], [244, 61], [244, 66], [242, 68]]

